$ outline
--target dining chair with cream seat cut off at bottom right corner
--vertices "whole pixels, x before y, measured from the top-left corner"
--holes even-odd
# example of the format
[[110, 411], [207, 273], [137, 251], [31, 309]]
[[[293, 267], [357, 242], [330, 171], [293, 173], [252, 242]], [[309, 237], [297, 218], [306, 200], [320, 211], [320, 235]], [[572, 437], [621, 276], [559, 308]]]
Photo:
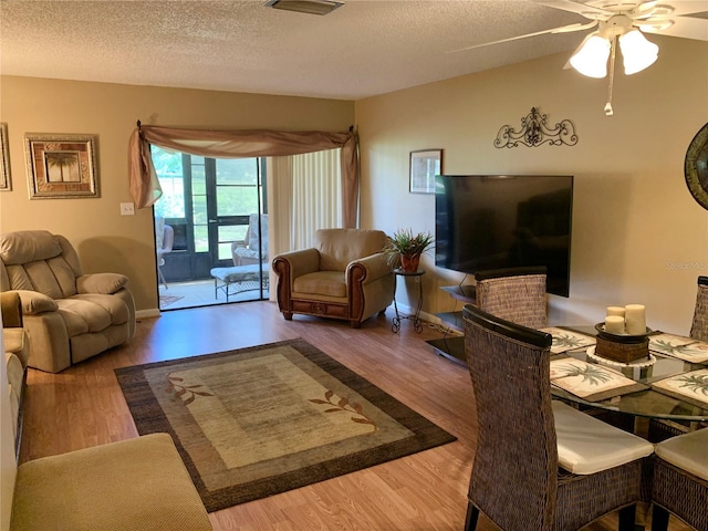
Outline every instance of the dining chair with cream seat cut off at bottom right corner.
[[652, 531], [668, 529], [669, 513], [708, 530], [708, 428], [656, 445]]

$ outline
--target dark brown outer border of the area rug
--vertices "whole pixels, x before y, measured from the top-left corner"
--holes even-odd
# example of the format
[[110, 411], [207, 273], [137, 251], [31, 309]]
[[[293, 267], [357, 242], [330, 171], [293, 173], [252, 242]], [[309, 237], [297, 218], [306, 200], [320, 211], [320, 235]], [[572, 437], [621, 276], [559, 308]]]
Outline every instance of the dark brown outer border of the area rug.
[[[167, 416], [153, 394], [153, 391], [145, 378], [145, 371], [158, 366], [165, 367], [170, 365], [183, 365], [189, 362], [233, 356], [287, 345], [295, 348], [303, 356], [315, 363], [323, 371], [334, 376], [347, 387], [362, 395], [415, 435], [404, 440], [389, 442], [387, 445], [382, 445], [356, 454], [350, 454], [341, 458], [323, 461], [292, 472], [285, 472], [274, 477], [209, 492], [199, 476], [197, 467], [189, 457], [189, 454], [183, 447], [177, 434], [173, 429]], [[404, 405], [383, 389], [378, 388], [364, 377], [360, 376], [345, 365], [302, 339], [267, 343], [263, 345], [218, 352], [215, 354], [204, 354], [188, 358], [168, 360], [131, 367], [119, 367], [115, 369], [115, 374], [138, 433], [140, 435], [147, 435], [164, 431], [168, 433], [173, 437], [173, 440], [179, 450], [179, 455], [181, 456], [208, 512], [218, 511], [239, 503], [246, 503], [248, 501], [305, 487], [308, 485], [369, 468], [457, 440], [457, 438], [448, 431], [414, 412], [408, 406]]]

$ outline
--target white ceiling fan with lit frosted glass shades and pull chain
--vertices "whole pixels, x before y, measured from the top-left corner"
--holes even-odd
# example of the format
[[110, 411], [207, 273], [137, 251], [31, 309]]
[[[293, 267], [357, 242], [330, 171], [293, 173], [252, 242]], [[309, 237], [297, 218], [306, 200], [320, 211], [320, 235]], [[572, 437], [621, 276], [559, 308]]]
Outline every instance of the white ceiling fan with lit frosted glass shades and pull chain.
[[448, 53], [473, 50], [543, 34], [594, 30], [573, 52], [565, 67], [573, 67], [590, 77], [605, 77], [610, 60], [610, 86], [605, 114], [612, 116], [612, 90], [617, 45], [622, 52], [625, 74], [650, 66], [658, 56], [658, 46], [644, 33], [660, 33], [683, 39], [708, 41], [708, 0], [530, 0], [549, 8], [571, 11], [590, 20], [475, 44]]

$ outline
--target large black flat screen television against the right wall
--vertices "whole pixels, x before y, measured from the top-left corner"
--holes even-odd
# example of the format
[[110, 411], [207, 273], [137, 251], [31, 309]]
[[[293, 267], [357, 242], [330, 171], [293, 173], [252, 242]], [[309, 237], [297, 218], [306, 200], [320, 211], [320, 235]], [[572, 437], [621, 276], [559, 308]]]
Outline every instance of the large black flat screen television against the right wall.
[[569, 296], [573, 176], [439, 175], [435, 263], [477, 271], [545, 266], [546, 291]]

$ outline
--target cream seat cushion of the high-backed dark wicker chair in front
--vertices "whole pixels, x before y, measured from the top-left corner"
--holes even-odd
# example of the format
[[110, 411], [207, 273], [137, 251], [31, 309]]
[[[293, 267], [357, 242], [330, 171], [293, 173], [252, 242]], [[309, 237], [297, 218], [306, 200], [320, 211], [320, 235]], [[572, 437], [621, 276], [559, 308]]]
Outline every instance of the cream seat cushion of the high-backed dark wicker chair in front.
[[636, 435], [553, 400], [559, 465], [577, 475], [608, 470], [650, 456], [654, 446]]

